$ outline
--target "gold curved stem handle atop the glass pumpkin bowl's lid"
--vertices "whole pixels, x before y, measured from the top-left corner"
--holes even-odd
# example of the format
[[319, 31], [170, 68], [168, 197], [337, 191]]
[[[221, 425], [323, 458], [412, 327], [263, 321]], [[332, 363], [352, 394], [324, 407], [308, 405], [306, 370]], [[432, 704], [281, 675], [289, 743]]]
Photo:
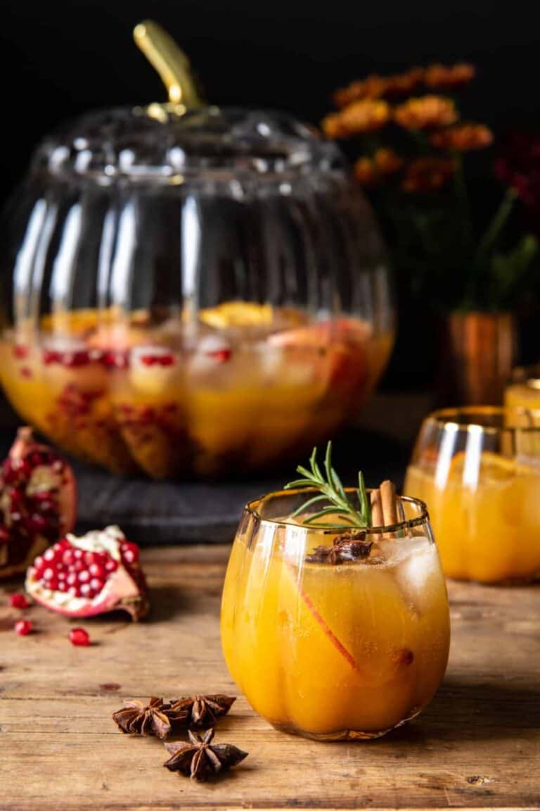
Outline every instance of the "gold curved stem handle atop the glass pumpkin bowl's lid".
[[190, 107], [201, 107], [202, 99], [198, 94], [189, 59], [184, 51], [160, 25], [151, 19], [145, 19], [134, 28], [133, 38], [151, 66], [159, 73], [172, 104]]

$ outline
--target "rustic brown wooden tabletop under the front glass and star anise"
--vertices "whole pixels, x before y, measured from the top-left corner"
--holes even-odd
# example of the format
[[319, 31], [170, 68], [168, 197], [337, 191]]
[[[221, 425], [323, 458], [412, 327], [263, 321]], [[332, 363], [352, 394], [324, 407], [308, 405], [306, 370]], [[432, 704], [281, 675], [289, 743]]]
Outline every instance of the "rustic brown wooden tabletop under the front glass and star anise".
[[193, 783], [162, 767], [154, 738], [121, 735], [122, 697], [236, 694], [219, 646], [228, 547], [149, 549], [147, 622], [70, 622], [40, 607], [17, 637], [0, 588], [0, 809], [540, 808], [540, 587], [451, 583], [450, 663], [432, 705], [371, 742], [287, 736], [243, 697], [219, 737], [249, 752], [230, 776]]

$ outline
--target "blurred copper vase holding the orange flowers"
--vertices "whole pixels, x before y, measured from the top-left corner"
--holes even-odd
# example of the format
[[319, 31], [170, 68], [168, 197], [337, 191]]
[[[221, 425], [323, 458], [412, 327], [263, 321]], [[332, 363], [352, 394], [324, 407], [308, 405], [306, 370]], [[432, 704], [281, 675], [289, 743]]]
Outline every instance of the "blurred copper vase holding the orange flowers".
[[511, 312], [453, 312], [442, 325], [438, 395], [444, 405], [502, 401], [517, 352]]

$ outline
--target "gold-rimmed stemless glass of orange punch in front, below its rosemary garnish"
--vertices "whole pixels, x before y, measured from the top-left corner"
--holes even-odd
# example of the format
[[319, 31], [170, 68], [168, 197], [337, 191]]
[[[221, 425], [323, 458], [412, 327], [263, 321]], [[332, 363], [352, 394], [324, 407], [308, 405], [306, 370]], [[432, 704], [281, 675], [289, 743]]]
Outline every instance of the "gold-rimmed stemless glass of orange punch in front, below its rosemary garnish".
[[378, 737], [419, 714], [448, 660], [429, 518], [421, 501], [401, 498], [399, 524], [353, 534], [372, 544], [368, 556], [353, 548], [336, 559], [337, 530], [290, 518], [310, 495], [280, 491], [244, 508], [223, 588], [223, 653], [274, 727], [317, 740]]

